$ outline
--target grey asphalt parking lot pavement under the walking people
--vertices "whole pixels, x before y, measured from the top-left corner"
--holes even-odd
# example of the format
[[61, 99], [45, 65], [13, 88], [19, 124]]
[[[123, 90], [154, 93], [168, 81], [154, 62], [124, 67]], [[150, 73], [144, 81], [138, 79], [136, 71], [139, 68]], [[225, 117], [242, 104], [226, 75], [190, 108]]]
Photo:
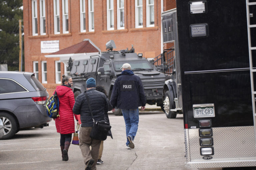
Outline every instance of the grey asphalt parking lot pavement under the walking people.
[[[146, 105], [132, 150], [126, 149], [123, 117], [109, 112], [109, 119], [113, 139], [104, 141], [104, 164], [98, 170], [187, 170], [182, 115], [167, 119], [160, 107]], [[49, 127], [21, 130], [13, 139], [0, 140], [0, 170], [84, 169], [78, 145], [70, 145], [67, 162], [61, 160], [59, 139], [51, 121]]]

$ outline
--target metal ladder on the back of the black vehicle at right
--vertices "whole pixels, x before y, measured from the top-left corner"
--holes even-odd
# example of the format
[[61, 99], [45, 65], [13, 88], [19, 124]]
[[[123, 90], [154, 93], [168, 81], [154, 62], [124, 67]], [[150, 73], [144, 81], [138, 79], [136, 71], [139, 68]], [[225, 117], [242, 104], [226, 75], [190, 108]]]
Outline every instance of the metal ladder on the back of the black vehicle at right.
[[256, 46], [253, 46], [253, 47], [251, 46], [251, 28], [256, 28], [256, 25], [250, 24], [250, 17], [252, 17], [252, 15], [250, 14], [250, 9], [249, 9], [250, 5], [256, 5], [256, 2], [249, 2], [249, 0], [246, 0], [246, 18], [247, 18], [251, 92], [252, 92], [252, 111], [253, 111], [253, 123], [254, 123], [254, 133], [255, 133], [254, 135], [255, 135], [255, 139], [256, 139], [256, 113], [255, 113], [256, 91], [254, 90], [254, 81], [253, 81], [253, 74], [254, 74], [254, 72], [256, 74], [256, 69], [253, 68], [253, 65], [252, 65], [252, 50], [256, 50]]

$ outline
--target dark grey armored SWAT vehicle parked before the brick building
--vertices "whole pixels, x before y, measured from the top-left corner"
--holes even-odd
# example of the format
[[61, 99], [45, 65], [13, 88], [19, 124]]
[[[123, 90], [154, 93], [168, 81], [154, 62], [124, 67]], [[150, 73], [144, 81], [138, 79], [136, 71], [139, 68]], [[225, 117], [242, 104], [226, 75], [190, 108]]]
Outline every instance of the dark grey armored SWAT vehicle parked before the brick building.
[[[105, 87], [110, 99], [116, 75], [122, 72], [120, 68], [124, 63], [129, 63], [134, 74], [141, 78], [147, 104], [157, 104], [163, 109], [163, 84], [166, 75], [157, 71], [156, 67], [142, 56], [142, 53], [135, 53], [133, 47], [130, 50], [127, 48], [113, 51], [115, 44], [112, 40], [106, 46], [108, 49], [106, 52], [84, 55], [74, 61], [69, 60], [75, 97], [86, 91], [86, 80], [93, 77], [97, 85]], [[122, 115], [121, 109], [116, 108], [114, 114]]]

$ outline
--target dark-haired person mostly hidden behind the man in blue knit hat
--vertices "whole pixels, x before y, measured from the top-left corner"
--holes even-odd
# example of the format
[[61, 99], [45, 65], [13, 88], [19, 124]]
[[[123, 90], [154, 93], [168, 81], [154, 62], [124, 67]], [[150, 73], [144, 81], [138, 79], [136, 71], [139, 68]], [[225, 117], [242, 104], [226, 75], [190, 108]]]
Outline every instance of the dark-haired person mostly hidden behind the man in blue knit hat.
[[[106, 92], [106, 90], [105, 90], [105, 88], [104, 88], [103, 86], [98, 85], [98, 86], [96, 86], [95, 89], [96, 89], [97, 91], [99, 91], [99, 92], [104, 93], [104, 94], [106, 95], [106, 97], [108, 98], [107, 92]], [[108, 102], [109, 102], [109, 101], [108, 101]], [[112, 107], [112, 105], [111, 105], [110, 102], [109, 102], [109, 109], [108, 109], [108, 111], [111, 111], [112, 109], [113, 109], [113, 107]], [[108, 112], [105, 112], [105, 121], [110, 124], [109, 118], [108, 118]], [[108, 131], [108, 136], [110, 136], [110, 137], [113, 139], [111, 130]], [[101, 143], [100, 143], [100, 151], [99, 151], [99, 157], [98, 157], [97, 164], [103, 164], [103, 163], [104, 163], [104, 162], [101, 160], [102, 152], [103, 152], [103, 140], [102, 140]]]

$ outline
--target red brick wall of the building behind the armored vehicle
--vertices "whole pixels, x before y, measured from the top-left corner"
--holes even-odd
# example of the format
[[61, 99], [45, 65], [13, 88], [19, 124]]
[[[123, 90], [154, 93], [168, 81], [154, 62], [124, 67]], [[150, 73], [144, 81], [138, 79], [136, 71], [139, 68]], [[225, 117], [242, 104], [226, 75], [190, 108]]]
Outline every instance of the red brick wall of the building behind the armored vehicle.
[[[86, 5], [86, 32], [80, 32], [80, 1], [69, 0], [69, 34], [62, 34], [62, 0], [60, 0], [60, 34], [54, 35], [53, 1], [45, 0], [46, 6], [46, 35], [40, 35], [39, 0], [38, 36], [32, 36], [31, 0], [23, 0], [24, 16], [24, 48], [25, 71], [33, 72], [33, 61], [38, 61], [39, 81], [42, 82], [41, 61], [47, 61], [47, 84], [43, 84], [49, 94], [55, 89], [55, 61], [56, 58], [46, 58], [49, 53], [41, 53], [41, 41], [59, 40], [60, 50], [84, 39], [90, 39], [101, 51], [105, 51], [106, 42], [114, 40], [116, 49], [130, 49], [133, 44], [136, 53], [143, 53], [144, 57], [154, 57], [161, 53], [161, 1], [154, 1], [155, 27], [146, 27], [146, 0], [143, 0], [143, 28], [135, 28], [135, 1], [125, 0], [125, 29], [117, 30], [117, 4], [114, 0], [114, 30], [107, 31], [106, 0], [94, 0], [94, 32], [88, 32], [88, 0]], [[70, 5], [72, 4], [72, 5]], [[175, 8], [175, 0], [164, 0], [166, 9]], [[165, 9], [164, 8], [164, 9]], [[165, 11], [165, 10], [164, 10]], [[166, 45], [165, 45], [166, 46]], [[168, 45], [167, 45], [168, 46]], [[64, 74], [64, 64], [61, 64], [61, 74]]]

